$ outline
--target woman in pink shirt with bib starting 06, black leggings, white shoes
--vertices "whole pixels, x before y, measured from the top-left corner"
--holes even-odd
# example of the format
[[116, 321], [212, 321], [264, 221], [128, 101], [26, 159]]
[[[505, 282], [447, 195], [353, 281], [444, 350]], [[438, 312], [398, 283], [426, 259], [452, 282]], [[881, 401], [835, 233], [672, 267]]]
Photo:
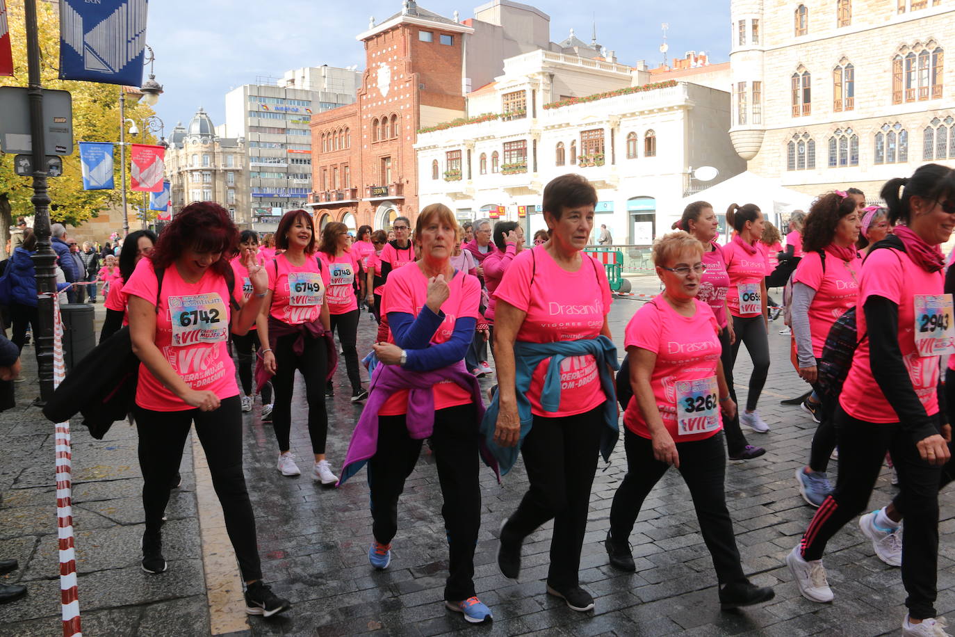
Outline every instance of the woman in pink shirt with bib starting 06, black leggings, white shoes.
[[753, 373], [750, 376], [750, 392], [746, 396], [746, 410], [739, 414], [739, 422], [758, 434], [765, 434], [770, 431], [770, 427], [756, 412], [759, 393], [763, 391], [766, 376], [770, 371], [766, 260], [758, 247], [765, 222], [763, 213], [754, 203], [741, 206], [731, 203], [726, 212], [726, 221], [736, 230], [732, 241], [723, 246], [726, 271], [730, 275], [726, 300], [732, 314], [733, 332], [736, 334], [727, 375], [732, 377], [732, 369], [736, 366], [736, 353], [740, 344], [745, 343], [746, 350], [753, 359]]

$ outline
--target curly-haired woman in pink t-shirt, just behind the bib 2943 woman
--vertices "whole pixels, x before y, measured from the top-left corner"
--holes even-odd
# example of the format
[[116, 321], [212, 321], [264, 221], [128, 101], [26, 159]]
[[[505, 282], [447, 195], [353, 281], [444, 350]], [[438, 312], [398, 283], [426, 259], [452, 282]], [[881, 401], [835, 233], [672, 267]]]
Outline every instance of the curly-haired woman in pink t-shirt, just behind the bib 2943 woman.
[[[799, 377], [813, 386], [821, 399], [825, 393], [817, 386], [817, 363], [822, 357], [829, 329], [838, 317], [856, 305], [862, 260], [856, 250], [859, 239], [859, 212], [856, 202], [836, 191], [821, 195], [806, 217], [802, 245], [804, 253], [793, 274], [793, 336]], [[811, 404], [815, 402], [815, 405]], [[829, 494], [826, 469], [836, 448], [836, 430], [829, 401], [821, 404], [813, 396], [806, 399], [808, 411], [817, 422], [809, 464], [796, 470], [799, 493], [809, 504], [818, 506]]]

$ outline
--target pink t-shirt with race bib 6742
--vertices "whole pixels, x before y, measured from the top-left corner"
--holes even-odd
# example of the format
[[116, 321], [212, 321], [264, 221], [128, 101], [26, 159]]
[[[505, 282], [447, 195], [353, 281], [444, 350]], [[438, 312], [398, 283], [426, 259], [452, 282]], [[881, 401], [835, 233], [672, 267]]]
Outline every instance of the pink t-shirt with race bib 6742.
[[[153, 262], [142, 259], [123, 291], [155, 304], [157, 289]], [[183, 281], [175, 265], [167, 267], [162, 276], [156, 347], [189, 387], [215, 393], [220, 400], [239, 393], [228, 334], [229, 302], [241, 298], [241, 294], [238, 279], [230, 291], [225, 279], [212, 268], [196, 283]], [[143, 364], [139, 365], [136, 404], [155, 412], [193, 409], [167, 390]]]

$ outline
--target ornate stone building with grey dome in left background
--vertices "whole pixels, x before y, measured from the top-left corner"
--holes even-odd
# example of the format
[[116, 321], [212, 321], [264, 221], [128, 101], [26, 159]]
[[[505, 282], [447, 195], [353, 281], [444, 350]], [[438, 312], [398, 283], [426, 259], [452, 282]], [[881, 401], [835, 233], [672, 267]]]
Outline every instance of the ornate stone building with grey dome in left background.
[[241, 228], [251, 227], [248, 164], [243, 138], [222, 138], [200, 108], [188, 126], [176, 124], [166, 149], [173, 214], [191, 202], [219, 202]]

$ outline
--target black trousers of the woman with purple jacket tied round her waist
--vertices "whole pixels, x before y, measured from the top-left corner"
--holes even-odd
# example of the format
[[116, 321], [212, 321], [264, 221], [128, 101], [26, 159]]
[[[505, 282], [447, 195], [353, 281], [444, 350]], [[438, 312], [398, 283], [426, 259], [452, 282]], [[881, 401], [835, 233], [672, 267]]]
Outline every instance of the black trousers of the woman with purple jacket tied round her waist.
[[[441, 515], [448, 536], [448, 581], [444, 599], [461, 602], [475, 595], [475, 548], [480, 528], [480, 483], [477, 478], [477, 414], [474, 405], [435, 412], [431, 448], [444, 504]], [[391, 543], [398, 530], [398, 497], [421, 452], [423, 440], [408, 435], [404, 415], [378, 416], [378, 451], [368, 462], [371, 531]]]

